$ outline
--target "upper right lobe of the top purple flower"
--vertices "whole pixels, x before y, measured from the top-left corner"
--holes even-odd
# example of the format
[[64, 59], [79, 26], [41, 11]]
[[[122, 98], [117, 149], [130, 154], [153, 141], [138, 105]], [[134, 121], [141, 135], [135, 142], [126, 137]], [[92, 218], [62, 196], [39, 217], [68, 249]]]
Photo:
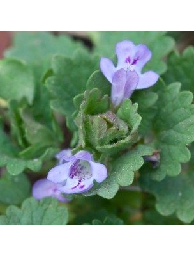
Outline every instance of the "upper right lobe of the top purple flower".
[[136, 69], [140, 72], [142, 67], [151, 59], [152, 53], [149, 48], [144, 44], [135, 46], [134, 60], [137, 60]]

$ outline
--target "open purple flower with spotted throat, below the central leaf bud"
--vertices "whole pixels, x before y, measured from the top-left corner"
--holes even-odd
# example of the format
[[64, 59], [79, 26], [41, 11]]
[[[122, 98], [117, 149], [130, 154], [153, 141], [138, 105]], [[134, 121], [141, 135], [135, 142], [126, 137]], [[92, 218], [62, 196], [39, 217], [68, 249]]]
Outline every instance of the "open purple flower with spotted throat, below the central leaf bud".
[[59, 157], [62, 160], [66, 163], [52, 168], [47, 176], [54, 184], [60, 184], [57, 189], [62, 193], [82, 193], [92, 188], [94, 180], [100, 183], [107, 178], [106, 166], [94, 162], [89, 152], [82, 150], [70, 156], [63, 151]]

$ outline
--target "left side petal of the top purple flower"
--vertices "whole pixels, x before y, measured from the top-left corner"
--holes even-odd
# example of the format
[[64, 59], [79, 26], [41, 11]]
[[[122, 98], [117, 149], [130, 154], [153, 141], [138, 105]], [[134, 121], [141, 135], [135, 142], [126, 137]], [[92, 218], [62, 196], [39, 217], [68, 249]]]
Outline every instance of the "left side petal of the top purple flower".
[[112, 83], [112, 77], [114, 76], [114, 72], [116, 72], [116, 67], [114, 67], [112, 60], [102, 57], [100, 60], [100, 69], [107, 80]]

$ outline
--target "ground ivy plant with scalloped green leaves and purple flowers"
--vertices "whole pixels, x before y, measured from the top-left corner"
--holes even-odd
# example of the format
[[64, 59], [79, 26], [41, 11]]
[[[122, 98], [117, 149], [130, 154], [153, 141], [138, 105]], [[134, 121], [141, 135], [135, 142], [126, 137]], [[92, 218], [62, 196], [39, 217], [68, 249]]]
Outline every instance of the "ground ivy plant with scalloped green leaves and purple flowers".
[[15, 33], [0, 225], [193, 225], [194, 48], [173, 35]]

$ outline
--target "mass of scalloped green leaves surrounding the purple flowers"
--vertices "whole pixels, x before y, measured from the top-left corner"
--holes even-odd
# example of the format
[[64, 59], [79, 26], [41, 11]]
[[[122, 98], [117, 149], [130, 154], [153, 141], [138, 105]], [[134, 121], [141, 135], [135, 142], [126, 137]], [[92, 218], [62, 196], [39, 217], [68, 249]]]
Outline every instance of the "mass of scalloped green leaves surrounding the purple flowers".
[[[161, 31], [102, 31], [89, 35], [94, 42], [93, 52], [106, 57], [113, 56], [121, 40], [146, 44], [153, 57], [145, 71], [158, 74], [167, 70], [161, 58], [174, 46], [172, 38]], [[165, 86], [159, 82], [153, 88], [134, 92], [131, 100], [124, 100], [116, 111], [110, 102], [111, 84], [98, 70], [100, 56], [89, 54], [79, 42], [44, 32], [19, 33], [6, 56], [20, 60], [10, 58], [0, 63], [0, 97], [6, 100], [9, 112], [7, 115], [3, 109], [3, 120], [11, 124], [13, 135], [11, 141], [5, 132], [7, 127], [1, 125], [0, 166], [6, 166], [8, 172], [0, 180], [0, 202], [21, 204], [30, 189], [29, 180], [21, 172], [40, 170], [42, 161], [51, 159], [64, 140], [54, 109], [65, 116], [74, 134], [78, 130], [74, 151], [89, 150], [95, 160], [107, 166], [108, 178], [94, 184], [84, 196], [113, 198], [121, 186], [131, 185], [134, 172], [144, 164], [143, 156], [159, 149], [160, 165], [153, 169], [147, 164], [140, 171], [140, 186], [156, 196], [160, 214], [175, 213], [185, 223], [194, 220], [192, 168], [188, 172], [184, 166], [181, 172], [181, 163], [190, 159], [187, 145], [194, 140], [192, 93], [181, 92], [179, 83]], [[193, 91], [193, 60], [193, 47], [182, 55], [172, 52], [163, 75], [165, 82], [179, 81], [183, 90]], [[136, 143], [151, 143], [151, 147]], [[8, 207], [6, 215], [0, 217], [1, 225], [65, 225], [67, 221], [66, 207], [51, 198], [41, 202], [29, 198], [21, 209]], [[117, 225], [122, 221], [106, 218], [92, 224]]]

